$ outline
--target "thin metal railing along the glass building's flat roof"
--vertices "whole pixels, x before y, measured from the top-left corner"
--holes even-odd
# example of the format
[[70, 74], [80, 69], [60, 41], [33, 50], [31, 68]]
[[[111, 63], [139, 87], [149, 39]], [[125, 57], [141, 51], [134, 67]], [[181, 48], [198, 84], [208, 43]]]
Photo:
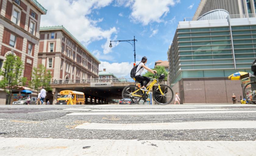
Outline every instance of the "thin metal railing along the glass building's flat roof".
[[[185, 17], [184, 21], [196, 21], [201, 17], [203, 16]], [[237, 19], [237, 18], [251, 18], [251, 17], [256, 17], [256, 14], [211, 15], [211, 16], [208, 16], [207, 18], [210, 18], [209, 20], [211, 20], [211, 19], [228, 19], [228, 18]]]

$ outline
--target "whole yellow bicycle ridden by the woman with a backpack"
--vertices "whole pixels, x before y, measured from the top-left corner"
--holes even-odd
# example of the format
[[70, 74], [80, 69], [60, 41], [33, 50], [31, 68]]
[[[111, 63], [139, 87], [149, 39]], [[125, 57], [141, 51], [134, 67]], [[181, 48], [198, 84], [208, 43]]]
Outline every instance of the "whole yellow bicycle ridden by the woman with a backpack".
[[[147, 90], [148, 90], [147, 92], [140, 90], [140, 88], [136, 85], [126, 86], [122, 92], [123, 100], [127, 104], [132, 104], [132, 105], [139, 103], [141, 99], [146, 101], [146, 99], [148, 99], [149, 92], [153, 88], [154, 101], [160, 105], [169, 104], [173, 99], [172, 88], [168, 85], [159, 84], [158, 79], [159, 80], [164, 79], [165, 76], [164, 76], [164, 74], [162, 74], [162, 75], [160, 75], [159, 78], [155, 78], [158, 76], [159, 75], [157, 75], [157, 74], [154, 75], [154, 78], [152, 78], [153, 81], [147, 87]], [[155, 84], [157, 84], [157, 85], [155, 85]]]

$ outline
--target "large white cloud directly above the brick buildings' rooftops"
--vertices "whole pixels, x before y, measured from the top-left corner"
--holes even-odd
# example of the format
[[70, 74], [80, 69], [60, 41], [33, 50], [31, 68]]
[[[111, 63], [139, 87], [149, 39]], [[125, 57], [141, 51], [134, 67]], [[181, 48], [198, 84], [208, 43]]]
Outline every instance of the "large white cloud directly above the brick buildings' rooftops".
[[41, 26], [63, 25], [85, 46], [93, 41], [108, 39], [117, 33], [116, 27], [102, 29], [97, 26], [101, 19], [90, 19], [92, 10], [110, 5], [112, 0], [38, 0], [48, 9], [46, 15], [41, 16]]

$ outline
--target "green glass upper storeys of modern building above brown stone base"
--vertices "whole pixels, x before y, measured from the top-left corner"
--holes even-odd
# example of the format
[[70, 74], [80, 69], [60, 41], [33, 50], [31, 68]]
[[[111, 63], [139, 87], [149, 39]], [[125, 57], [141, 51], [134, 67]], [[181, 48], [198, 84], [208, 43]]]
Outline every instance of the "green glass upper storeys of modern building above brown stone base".
[[[222, 16], [216, 19], [218, 12]], [[206, 13], [207, 19], [179, 22], [168, 50], [172, 86], [182, 78], [226, 78], [236, 71], [251, 72], [256, 18], [229, 19], [223, 10], [211, 13], [212, 18]]]

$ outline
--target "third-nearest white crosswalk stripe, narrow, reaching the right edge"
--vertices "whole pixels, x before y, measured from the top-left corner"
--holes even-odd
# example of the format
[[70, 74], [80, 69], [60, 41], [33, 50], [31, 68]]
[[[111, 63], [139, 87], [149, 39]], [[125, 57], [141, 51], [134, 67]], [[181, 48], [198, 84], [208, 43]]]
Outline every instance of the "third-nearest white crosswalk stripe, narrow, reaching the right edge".
[[164, 115], [164, 114], [210, 114], [210, 113], [256, 113], [255, 110], [241, 111], [188, 111], [188, 112], [75, 112], [67, 115]]

